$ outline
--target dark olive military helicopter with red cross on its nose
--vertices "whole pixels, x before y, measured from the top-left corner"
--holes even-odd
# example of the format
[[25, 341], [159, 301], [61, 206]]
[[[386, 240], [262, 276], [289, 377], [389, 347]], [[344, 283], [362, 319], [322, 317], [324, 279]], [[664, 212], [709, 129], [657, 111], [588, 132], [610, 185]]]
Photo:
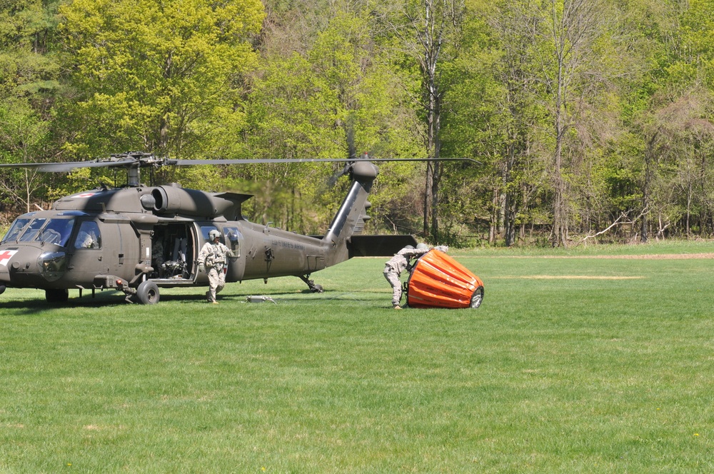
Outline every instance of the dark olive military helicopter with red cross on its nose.
[[[457, 160], [462, 158], [446, 158]], [[406, 158], [424, 161], [423, 158]], [[470, 158], [466, 158], [468, 161]], [[352, 183], [323, 236], [303, 236], [243, 217], [249, 194], [207, 192], [176, 183], [144, 186], [142, 168], [248, 163], [345, 162]], [[355, 256], [392, 256], [413, 236], [361, 235], [367, 201], [377, 177], [368, 156], [344, 159], [178, 160], [151, 153], [120, 153], [96, 161], [11, 163], [0, 167], [69, 172], [76, 168], [126, 168], [126, 186], [98, 188], [56, 201], [49, 211], [25, 213], [0, 241], [0, 293], [6, 288], [44, 289], [46, 301], [65, 303], [69, 290], [122, 291], [125, 300], [159, 302], [159, 288], [208, 286], [196, 258], [211, 231], [231, 250], [226, 282], [296, 276], [314, 292], [323, 288], [311, 273]]]

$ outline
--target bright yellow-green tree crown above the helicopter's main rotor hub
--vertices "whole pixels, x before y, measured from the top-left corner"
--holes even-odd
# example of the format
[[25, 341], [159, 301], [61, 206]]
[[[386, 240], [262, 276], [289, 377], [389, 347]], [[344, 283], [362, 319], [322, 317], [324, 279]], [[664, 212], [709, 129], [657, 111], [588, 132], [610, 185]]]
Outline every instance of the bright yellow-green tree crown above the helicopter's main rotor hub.
[[124, 150], [176, 157], [213, 151], [241, 114], [240, 78], [256, 65], [255, 0], [76, 0], [61, 9], [78, 127], [66, 149], [79, 156]]

